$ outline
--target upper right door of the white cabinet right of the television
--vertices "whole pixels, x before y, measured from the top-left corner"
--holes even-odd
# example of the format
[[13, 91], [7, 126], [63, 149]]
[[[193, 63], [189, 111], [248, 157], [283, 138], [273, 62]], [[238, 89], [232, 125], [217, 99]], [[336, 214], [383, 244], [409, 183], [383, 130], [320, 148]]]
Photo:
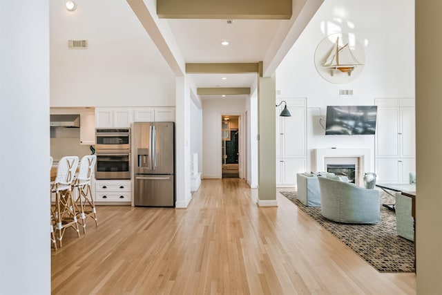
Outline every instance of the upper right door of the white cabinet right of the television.
[[401, 108], [401, 157], [416, 156], [416, 119], [414, 108]]

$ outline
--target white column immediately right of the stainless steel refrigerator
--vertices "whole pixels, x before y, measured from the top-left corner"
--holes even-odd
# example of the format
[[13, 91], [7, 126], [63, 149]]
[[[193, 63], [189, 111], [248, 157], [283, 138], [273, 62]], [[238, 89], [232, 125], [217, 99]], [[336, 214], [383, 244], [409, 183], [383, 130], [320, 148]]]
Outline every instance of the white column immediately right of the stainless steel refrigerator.
[[191, 96], [185, 77], [176, 78], [175, 207], [186, 208], [191, 200]]

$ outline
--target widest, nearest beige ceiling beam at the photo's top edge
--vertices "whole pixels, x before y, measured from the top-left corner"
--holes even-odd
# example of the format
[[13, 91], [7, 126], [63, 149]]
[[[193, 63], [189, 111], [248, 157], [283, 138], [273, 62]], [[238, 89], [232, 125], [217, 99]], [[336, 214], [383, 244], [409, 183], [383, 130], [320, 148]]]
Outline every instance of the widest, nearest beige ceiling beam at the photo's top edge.
[[290, 19], [292, 0], [157, 0], [160, 19]]

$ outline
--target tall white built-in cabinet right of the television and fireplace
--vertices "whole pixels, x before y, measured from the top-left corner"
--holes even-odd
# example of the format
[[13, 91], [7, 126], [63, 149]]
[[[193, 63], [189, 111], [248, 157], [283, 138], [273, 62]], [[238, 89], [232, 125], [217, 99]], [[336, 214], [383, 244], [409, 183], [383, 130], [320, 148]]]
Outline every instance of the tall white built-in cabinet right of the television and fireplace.
[[378, 183], [408, 183], [416, 172], [416, 120], [413, 98], [378, 98], [375, 171]]

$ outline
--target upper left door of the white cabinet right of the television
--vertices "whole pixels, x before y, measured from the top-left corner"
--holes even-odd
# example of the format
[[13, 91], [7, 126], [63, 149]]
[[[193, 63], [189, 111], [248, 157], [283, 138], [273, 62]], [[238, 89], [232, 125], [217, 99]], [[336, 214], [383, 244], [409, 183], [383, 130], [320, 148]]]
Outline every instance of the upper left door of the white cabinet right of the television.
[[378, 108], [376, 157], [398, 157], [398, 108]]

